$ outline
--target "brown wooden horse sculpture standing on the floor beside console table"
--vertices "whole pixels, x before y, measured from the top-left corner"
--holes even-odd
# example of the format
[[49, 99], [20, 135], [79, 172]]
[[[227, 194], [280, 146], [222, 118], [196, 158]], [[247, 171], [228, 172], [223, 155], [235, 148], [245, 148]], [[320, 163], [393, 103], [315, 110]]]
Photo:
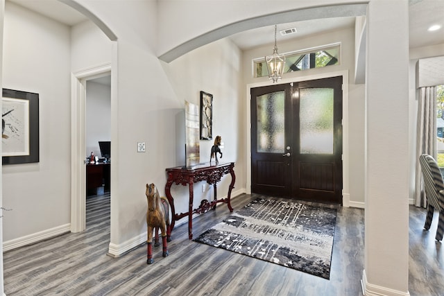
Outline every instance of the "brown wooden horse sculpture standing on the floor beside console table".
[[153, 263], [153, 230], [155, 229], [154, 246], [159, 246], [159, 229], [162, 232], [162, 256], [168, 256], [167, 241], [171, 241], [171, 229], [169, 227], [169, 202], [167, 198], [161, 198], [155, 184], [146, 184], [146, 200], [148, 211], [146, 211], [146, 225], [148, 226], [148, 243], [146, 263]]

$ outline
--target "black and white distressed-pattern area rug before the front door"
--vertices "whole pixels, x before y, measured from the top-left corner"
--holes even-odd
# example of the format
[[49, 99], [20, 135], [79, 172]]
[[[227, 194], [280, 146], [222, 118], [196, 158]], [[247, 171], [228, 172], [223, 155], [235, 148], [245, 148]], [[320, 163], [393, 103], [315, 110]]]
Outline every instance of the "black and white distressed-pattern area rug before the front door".
[[258, 198], [194, 241], [330, 279], [336, 209]]

